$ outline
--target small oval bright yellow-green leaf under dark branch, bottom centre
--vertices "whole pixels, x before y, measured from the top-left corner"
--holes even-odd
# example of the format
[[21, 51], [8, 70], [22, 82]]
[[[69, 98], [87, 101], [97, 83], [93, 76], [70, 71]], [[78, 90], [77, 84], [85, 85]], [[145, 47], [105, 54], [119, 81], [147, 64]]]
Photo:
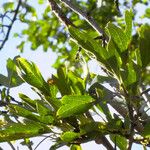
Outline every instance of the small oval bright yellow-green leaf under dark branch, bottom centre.
[[76, 132], [64, 132], [62, 133], [62, 135], [60, 136], [60, 138], [64, 141], [64, 142], [72, 142], [75, 139], [80, 137], [80, 133], [76, 133]]

